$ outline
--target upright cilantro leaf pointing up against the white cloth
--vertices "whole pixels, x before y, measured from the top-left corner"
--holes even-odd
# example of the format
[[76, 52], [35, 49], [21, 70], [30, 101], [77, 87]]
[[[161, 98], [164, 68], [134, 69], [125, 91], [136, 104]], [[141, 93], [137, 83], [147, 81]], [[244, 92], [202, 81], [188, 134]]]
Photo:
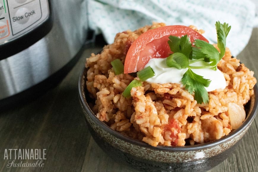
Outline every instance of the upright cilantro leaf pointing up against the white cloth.
[[219, 60], [221, 60], [225, 54], [226, 37], [231, 29], [231, 26], [228, 26], [228, 23], [221, 24], [219, 21], [216, 22], [215, 26], [217, 31], [218, 47], [220, 50]]

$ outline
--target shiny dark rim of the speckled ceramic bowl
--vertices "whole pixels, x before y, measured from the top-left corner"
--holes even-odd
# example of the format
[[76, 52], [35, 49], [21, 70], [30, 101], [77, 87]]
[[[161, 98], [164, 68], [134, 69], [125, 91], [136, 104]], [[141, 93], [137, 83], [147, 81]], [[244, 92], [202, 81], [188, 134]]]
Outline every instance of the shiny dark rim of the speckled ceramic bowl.
[[89, 117], [98, 126], [103, 128], [108, 133], [112, 134], [113, 136], [116, 136], [117, 138], [119, 138], [123, 141], [129, 142], [130, 144], [142, 146], [142, 147], [145, 147], [145, 148], [148, 148], [148, 149], [168, 151], [168, 152], [187, 152], [187, 151], [198, 151], [198, 150], [202, 150], [202, 149], [209, 149], [209, 148], [218, 146], [220, 144], [223, 144], [224, 142], [230, 141], [232, 138], [238, 136], [246, 128], [248, 128], [251, 125], [251, 123], [253, 122], [253, 120], [256, 116], [256, 113], [257, 113], [257, 109], [258, 109], [258, 99], [257, 99], [258, 87], [257, 87], [257, 84], [256, 84], [254, 86], [254, 95], [251, 97], [251, 100], [250, 100], [251, 103], [253, 103], [253, 109], [251, 109], [251, 112], [249, 111], [249, 114], [246, 117], [246, 119], [244, 120], [243, 124], [239, 128], [235, 129], [234, 131], [231, 131], [230, 134], [228, 134], [227, 136], [224, 136], [221, 139], [218, 139], [216, 141], [210, 141], [210, 142], [207, 142], [207, 143], [197, 144], [197, 145], [190, 145], [190, 146], [156, 146], [156, 147], [154, 147], [154, 146], [151, 146], [151, 145], [149, 145], [149, 144], [147, 144], [143, 141], [130, 138], [128, 136], [125, 136], [125, 135], [111, 129], [109, 126], [107, 126], [105, 123], [101, 122], [96, 117], [96, 115], [90, 109], [90, 106], [86, 102], [86, 99], [85, 99], [85, 96], [84, 96], [85, 82], [82, 82], [82, 81], [86, 81], [85, 74], [87, 74], [87, 69], [84, 67], [84, 69], [81, 72], [80, 77], [79, 77], [79, 84], [78, 84], [78, 86], [79, 86], [79, 98], [80, 98], [80, 101], [82, 103], [83, 108], [85, 109], [85, 112], [87, 112]]

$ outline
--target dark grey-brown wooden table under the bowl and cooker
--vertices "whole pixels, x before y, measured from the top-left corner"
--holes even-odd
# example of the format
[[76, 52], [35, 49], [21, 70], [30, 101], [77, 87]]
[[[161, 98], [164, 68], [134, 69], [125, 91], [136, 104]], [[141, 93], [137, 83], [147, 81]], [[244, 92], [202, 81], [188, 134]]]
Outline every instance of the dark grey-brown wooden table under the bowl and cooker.
[[[258, 28], [254, 28], [249, 44], [238, 55], [256, 77], [257, 39]], [[79, 74], [85, 57], [100, 50], [98, 46], [86, 49], [62, 82], [44, 95], [0, 112], [0, 171], [136, 171], [114, 162], [96, 145], [80, 107], [77, 89]], [[5, 149], [45, 149], [44, 166], [7, 168], [9, 160], [4, 159]], [[35, 163], [35, 160], [28, 163]], [[235, 151], [210, 171], [258, 171], [258, 117]]]

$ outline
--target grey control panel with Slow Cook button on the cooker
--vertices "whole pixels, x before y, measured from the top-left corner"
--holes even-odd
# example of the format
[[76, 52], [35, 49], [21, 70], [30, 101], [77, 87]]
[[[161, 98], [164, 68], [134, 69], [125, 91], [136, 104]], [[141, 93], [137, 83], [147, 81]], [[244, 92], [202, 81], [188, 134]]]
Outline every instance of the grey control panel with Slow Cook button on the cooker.
[[48, 0], [0, 0], [0, 45], [33, 30], [49, 15]]

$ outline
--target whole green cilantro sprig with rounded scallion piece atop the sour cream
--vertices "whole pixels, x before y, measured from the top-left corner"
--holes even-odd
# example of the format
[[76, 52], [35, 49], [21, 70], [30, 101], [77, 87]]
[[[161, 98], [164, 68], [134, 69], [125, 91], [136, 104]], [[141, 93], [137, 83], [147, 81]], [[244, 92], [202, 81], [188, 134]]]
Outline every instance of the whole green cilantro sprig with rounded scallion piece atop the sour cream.
[[[169, 47], [173, 54], [167, 57], [167, 66], [177, 69], [188, 68], [181, 82], [190, 94], [195, 93], [195, 100], [199, 104], [209, 102], [208, 92], [205, 87], [210, 85], [211, 80], [195, 74], [191, 69], [211, 68], [217, 70], [217, 64], [225, 54], [226, 37], [231, 28], [227, 23], [221, 24], [219, 21], [216, 22], [215, 26], [217, 31], [217, 44], [220, 52], [213, 45], [200, 39], [195, 39], [195, 42], [193, 42], [195, 47], [192, 47], [192, 43], [189, 41], [187, 35], [181, 38], [169, 36], [168, 40]], [[206, 63], [204, 63], [205, 65], [203, 66], [191, 66], [192, 63], [198, 61], [204, 61]]]

